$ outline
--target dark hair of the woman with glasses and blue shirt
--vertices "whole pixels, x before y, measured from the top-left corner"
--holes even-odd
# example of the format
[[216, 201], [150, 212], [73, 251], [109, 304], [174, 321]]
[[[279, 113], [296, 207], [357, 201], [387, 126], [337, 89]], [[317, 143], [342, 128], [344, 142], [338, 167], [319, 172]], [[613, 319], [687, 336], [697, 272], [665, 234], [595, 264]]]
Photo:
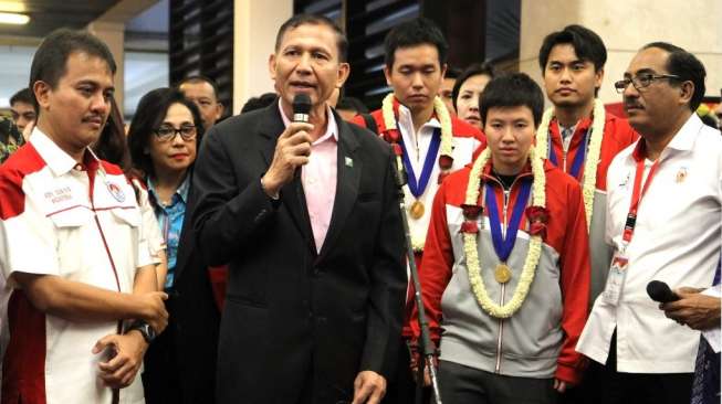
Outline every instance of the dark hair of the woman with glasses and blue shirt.
[[196, 104], [188, 100], [182, 93], [175, 88], [164, 87], [149, 92], [140, 98], [128, 130], [128, 147], [133, 167], [142, 171], [146, 177], [155, 177], [156, 174], [153, 168], [153, 159], [146, 152], [150, 137], [154, 136], [154, 130], [160, 127], [168, 114], [168, 109], [174, 104], [185, 105], [190, 110], [193, 116], [193, 124], [198, 128], [196, 145], [200, 145], [205, 128]]

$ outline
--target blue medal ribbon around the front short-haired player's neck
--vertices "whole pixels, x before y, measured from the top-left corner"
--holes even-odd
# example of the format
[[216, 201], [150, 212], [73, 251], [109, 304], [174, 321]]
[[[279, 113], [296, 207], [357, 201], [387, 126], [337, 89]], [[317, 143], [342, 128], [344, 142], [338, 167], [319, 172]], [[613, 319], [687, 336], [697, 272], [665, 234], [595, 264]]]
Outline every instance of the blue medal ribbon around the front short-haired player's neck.
[[[512, 211], [512, 220], [506, 227], [506, 237], [502, 237], [501, 220], [499, 219], [499, 208], [496, 205], [496, 195], [491, 181], [486, 181], [486, 206], [489, 206], [489, 223], [491, 227], [491, 241], [494, 245], [496, 256], [502, 263], [505, 263], [514, 248], [516, 242], [516, 233], [519, 232], [519, 224], [522, 221], [522, 213], [526, 208], [529, 195], [532, 191], [532, 179], [525, 178], [522, 180], [522, 188], [519, 191], [514, 208]], [[510, 196], [511, 198], [511, 196]]]

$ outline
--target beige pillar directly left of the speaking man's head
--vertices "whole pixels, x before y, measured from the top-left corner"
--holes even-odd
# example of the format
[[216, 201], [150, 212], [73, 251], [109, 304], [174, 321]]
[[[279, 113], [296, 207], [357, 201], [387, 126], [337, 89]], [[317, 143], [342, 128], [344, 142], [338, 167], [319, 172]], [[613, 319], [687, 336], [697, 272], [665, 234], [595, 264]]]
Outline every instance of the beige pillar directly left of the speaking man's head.
[[273, 92], [269, 56], [275, 34], [293, 15], [293, 0], [236, 0], [233, 10], [233, 115], [245, 100]]

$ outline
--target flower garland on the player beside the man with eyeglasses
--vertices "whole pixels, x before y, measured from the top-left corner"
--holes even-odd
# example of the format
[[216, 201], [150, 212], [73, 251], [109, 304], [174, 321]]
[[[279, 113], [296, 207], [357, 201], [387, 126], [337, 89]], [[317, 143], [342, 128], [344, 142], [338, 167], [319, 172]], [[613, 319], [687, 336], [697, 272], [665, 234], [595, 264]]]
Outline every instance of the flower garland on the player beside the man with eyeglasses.
[[[606, 113], [604, 104], [599, 99], [594, 100], [594, 111], [592, 113], [592, 139], [589, 140], [589, 150], [584, 163], [584, 179], [582, 193], [584, 195], [584, 212], [587, 216], [587, 232], [592, 225], [592, 209], [594, 208], [594, 191], [597, 187], [597, 166], [599, 166], [599, 155], [601, 153], [601, 137], [604, 136], [604, 125]], [[554, 118], [554, 108], [544, 111], [542, 123], [536, 131], [536, 148], [538, 150], [548, 150], [552, 147], [548, 141], [550, 124]]]

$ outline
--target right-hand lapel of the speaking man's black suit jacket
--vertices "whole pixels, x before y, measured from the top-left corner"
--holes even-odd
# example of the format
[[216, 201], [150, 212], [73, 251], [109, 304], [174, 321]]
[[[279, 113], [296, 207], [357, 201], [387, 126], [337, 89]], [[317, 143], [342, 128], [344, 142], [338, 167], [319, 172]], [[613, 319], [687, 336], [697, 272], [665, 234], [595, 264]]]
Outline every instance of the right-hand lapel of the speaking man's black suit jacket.
[[360, 158], [357, 158], [356, 153], [358, 141], [354, 137], [354, 132], [348, 127], [348, 124], [338, 116], [336, 116], [336, 123], [338, 124], [336, 196], [331, 214], [331, 224], [328, 225], [326, 238], [321, 247], [318, 261], [323, 259], [328, 254], [328, 251], [333, 248], [334, 243], [341, 235], [344, 223], [346, 223], [346, 217], [348, 217], [356, 203], [363, 169], [363, 161]]

